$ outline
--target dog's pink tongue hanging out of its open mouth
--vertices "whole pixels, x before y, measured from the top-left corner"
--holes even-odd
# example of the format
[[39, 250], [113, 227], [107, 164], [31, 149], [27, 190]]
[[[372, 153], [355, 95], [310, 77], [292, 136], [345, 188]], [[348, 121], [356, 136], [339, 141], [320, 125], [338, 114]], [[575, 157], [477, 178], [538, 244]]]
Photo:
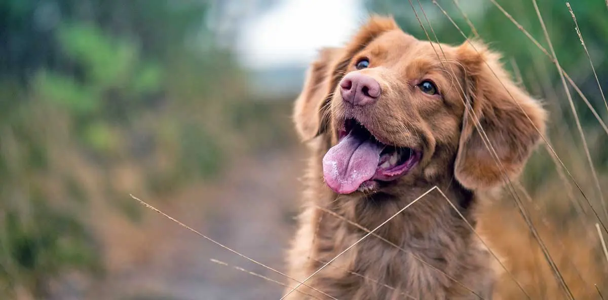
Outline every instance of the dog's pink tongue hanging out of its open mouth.
[[349, 133], [323, 157], [325, 183], [336, 193], [350, 194], [370, 180], [380, 162], [380, 145]]

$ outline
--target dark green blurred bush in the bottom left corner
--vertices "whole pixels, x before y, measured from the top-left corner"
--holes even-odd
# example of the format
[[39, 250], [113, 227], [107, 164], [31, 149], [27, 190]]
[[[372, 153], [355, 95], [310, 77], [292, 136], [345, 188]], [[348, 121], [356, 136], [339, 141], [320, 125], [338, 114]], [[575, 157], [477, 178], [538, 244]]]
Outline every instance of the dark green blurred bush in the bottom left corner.
[[0, 282], [11, 290], [24, 287], [36, 298], [44, 298], [47, 284], [60, 274], [98, 273], [101, 268], [92, 236], [79, 220], [44, 201], [33, 203], [29, 217], [14, 209], [3, 213]]

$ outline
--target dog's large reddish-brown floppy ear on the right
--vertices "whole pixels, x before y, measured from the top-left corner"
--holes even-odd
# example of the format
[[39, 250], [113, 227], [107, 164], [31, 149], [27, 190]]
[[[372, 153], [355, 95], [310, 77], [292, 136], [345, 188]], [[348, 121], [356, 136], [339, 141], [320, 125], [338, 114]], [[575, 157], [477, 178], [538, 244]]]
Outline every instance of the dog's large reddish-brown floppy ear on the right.
[[522, 172], [544, 134], [547, 112], [482, 43], [468, 41], [457, 55], [471, 106], [465, 109], [454, 174], [471, 190], [505, 184]]

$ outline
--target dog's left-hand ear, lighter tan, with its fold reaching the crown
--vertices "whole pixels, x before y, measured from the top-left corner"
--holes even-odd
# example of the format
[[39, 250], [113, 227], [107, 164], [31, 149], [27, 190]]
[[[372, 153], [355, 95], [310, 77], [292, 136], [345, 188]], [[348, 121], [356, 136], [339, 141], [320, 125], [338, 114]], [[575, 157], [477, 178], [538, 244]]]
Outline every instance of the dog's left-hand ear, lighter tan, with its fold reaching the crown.
[[391, 17], [371, 16], [344, 48], [324, 48], [319, 52], [295, 100], [294, 122], [300, 139], [307, 141], [326, 131], [331, 96], [353, 56], [381, 33], [398, 28]]

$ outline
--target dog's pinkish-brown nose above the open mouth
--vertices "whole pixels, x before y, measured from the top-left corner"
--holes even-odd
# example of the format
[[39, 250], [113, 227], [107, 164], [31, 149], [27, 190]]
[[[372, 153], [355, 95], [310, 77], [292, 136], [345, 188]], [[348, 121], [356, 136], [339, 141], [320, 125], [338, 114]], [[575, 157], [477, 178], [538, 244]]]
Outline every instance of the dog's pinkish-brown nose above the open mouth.
[[380, 97], [380, 84], [368, 75], [351, 72], [340, 81], [340, 94], [344, 101], [364, 106], [375, 103]]

